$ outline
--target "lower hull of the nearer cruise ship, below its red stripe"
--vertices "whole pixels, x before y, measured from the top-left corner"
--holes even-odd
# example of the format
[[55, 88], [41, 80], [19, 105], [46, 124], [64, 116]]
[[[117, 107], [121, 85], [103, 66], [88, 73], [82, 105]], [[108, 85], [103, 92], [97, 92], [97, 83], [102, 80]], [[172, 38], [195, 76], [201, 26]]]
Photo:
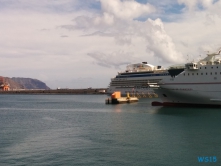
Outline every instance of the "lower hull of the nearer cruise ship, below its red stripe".
[[164, 103], [221, 105], [221, 83], [161, 85], [155, 91]]

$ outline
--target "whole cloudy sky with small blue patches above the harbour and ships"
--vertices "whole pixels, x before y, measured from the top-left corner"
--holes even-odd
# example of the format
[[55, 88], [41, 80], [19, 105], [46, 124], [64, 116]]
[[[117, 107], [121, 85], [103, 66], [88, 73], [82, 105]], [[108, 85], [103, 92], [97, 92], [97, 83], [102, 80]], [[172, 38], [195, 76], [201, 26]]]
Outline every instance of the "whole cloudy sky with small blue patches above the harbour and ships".
[[127, 64], [184, 64], [221, 47], [221, 0], [0, 0], [1, 76], [106, 88]]

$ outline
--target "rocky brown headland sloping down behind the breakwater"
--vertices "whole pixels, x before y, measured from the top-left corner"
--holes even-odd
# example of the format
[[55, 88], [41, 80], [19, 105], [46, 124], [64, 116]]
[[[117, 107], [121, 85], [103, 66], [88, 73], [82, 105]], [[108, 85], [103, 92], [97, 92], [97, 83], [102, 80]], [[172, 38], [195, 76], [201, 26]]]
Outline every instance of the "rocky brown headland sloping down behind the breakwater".
[[21, 77], [4, 77], [4, 82], [9, 83], [10, 89], [50, 89], [44, 82]]

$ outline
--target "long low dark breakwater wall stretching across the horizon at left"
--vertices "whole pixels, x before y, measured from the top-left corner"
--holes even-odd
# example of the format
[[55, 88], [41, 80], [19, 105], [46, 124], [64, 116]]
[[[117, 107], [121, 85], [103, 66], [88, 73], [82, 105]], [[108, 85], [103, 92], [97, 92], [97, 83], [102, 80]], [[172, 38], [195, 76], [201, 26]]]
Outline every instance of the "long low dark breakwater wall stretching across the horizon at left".
[[107, 89], [13, 89], [0, 91], [0, 94], [107, 94]]

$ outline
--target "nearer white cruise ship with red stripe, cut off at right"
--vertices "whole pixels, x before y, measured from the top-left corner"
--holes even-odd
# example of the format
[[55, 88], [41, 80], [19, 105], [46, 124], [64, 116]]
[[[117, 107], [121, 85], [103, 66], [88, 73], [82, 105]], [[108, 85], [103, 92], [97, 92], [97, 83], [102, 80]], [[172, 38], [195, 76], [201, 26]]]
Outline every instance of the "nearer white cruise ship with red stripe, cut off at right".
[[171, 69], [156, 89], [163, 106], [221, 106], [220, 52], [207, 54], [204, 59], [185, 64], [185, 69]]

